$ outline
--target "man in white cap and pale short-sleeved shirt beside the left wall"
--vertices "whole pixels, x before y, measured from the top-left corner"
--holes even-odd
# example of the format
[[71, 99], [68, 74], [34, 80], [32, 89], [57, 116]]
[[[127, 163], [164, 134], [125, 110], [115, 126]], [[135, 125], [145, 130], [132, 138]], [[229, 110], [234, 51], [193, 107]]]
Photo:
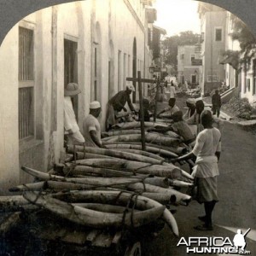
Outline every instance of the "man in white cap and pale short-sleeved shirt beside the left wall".
[[90, 102], [90, 113], [83, 123], [85, 145], [88, 147], [105, 148], [101, 140], [101, 125], [97, 119], [101, 112], [100, 102]]

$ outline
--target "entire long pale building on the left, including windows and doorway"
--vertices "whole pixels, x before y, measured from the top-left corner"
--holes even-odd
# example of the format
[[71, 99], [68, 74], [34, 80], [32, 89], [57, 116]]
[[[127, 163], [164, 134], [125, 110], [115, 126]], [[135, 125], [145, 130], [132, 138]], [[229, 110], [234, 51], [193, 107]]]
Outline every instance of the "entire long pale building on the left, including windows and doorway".
[[9, 31], [0, 48], [0, 194], [31, 180], [20, 166], [46, 172], [61, 160], [67, 83], [81, 86], [73, 100], [79, 127], [94, 100], [102, 103], [104, 127], [108, 99], [125, 89], [126, 78], [137, 71], [152, 77], [148, 24], [154, 19], [146, 15], [151, 2], [60, 4], [26, 16]]

